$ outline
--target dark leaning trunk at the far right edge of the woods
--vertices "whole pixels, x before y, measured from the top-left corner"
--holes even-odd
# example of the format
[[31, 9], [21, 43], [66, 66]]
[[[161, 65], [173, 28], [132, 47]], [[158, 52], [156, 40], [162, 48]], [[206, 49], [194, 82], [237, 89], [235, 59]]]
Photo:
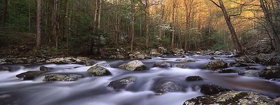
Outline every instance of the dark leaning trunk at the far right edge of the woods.
[[260, 0], [260, 6], [262, 8], [263, 13], [265, 14], [265, 20], [267, 21], [267, 25], [271, 30], [272, 37], [274, 38], [275, 48], [276, 50], [280, 50], [280, 38], [277, 34], [276, 27], [273, 25], [272, 17], [269, 15], [268, 8], [265, 6], [263, 0]]

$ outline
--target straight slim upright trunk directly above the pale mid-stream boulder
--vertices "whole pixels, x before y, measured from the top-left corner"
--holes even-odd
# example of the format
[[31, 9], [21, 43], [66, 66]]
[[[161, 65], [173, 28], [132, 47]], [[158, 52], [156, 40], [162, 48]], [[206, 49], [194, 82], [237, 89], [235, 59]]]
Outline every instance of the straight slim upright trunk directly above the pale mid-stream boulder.
[[133, 43], [134, 43], [134, 13], [135, 13], [135, 3], [134, 0], [131, 0], [131, 6], [132, 6], [132, 40], [130, 43], [130, 52], [133, 52]]

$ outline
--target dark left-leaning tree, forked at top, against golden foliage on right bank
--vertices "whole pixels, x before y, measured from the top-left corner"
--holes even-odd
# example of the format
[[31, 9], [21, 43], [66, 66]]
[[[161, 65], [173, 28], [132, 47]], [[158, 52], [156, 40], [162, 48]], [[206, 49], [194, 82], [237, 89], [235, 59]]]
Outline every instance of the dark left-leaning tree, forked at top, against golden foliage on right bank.
[[235, 50], [237, 50], [237, 55], [244, 55], [244, 51], [242, 49], [241, 44], [239, 43], [236, 31], [235, 31], [235, 27], [233, 27], [232, 22], [230, 21], [230, 16], [228, 15], [228, 12], [223, 4], [223, 0], [218, 0], [220, 5], [213, 0], [209, 0], [209, 1], [211, 1], [216, 6], [218, 6], [218, 8], [221, 8], [221, 10], [223, 12], [223, 17], [225, 18], [225, 22], [227, 23], [228, 29], [230, 30], [232, 42], [235, 45]]

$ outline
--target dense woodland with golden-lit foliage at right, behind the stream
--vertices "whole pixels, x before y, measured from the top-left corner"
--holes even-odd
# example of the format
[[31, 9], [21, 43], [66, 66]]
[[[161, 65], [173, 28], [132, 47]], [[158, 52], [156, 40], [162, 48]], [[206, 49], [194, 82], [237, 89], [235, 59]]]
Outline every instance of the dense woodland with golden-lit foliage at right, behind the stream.
[[1, 55], [98, 55], [102, 49], [279, 49], [279, 1], [1, 1]]

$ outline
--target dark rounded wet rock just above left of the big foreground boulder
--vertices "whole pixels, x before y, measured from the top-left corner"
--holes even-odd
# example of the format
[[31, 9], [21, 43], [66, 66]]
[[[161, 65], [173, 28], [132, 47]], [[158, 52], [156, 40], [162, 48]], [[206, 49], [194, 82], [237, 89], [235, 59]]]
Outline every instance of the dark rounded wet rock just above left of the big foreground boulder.
[[153, 86], [152, 89], [158, 95], [165, 94], [166, 92], [184, 92], [186, 91], [183, 85], [179, 83], [174, 83], [172, 81], [162, 81], [157, 85]]

